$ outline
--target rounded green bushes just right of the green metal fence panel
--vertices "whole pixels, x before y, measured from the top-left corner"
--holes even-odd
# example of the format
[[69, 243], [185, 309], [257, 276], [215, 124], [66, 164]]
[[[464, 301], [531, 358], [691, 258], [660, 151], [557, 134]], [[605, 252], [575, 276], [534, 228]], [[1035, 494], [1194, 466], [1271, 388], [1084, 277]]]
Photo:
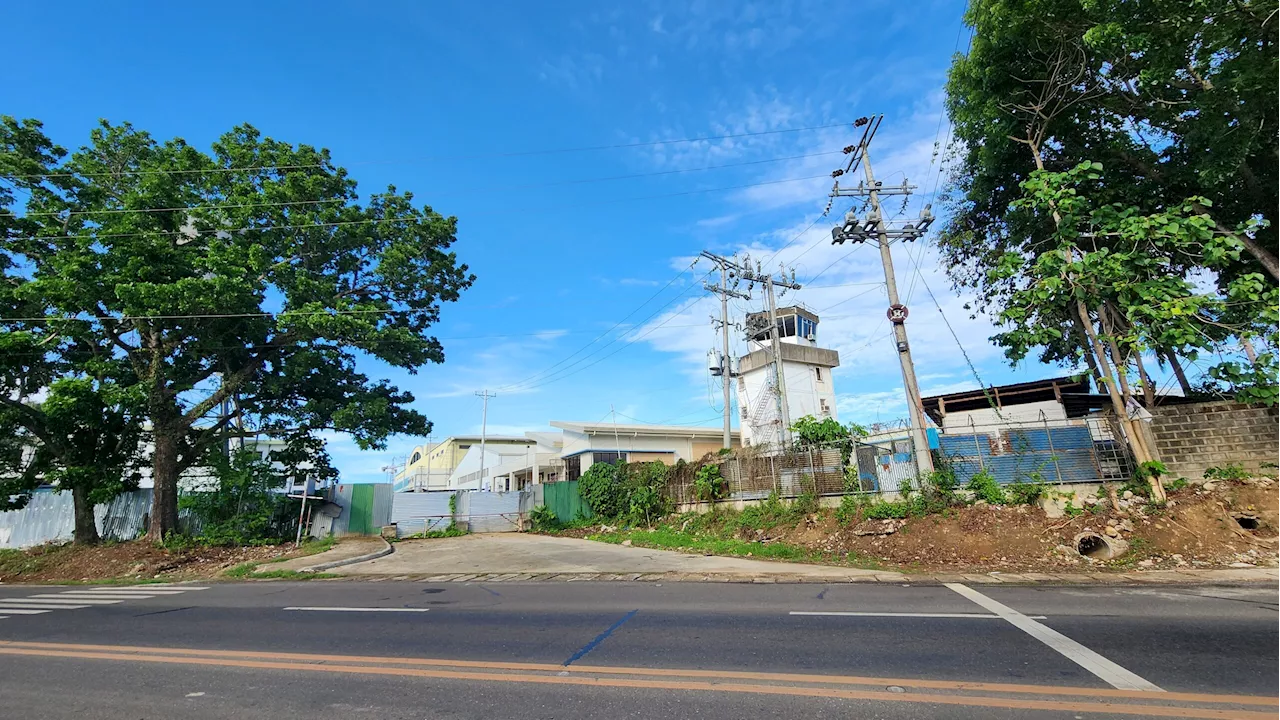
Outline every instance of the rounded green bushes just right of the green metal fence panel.
[[593, 462], [577, 489], [596, 518], [652, 524], [671, 512], [668, 468], [654, 462]]

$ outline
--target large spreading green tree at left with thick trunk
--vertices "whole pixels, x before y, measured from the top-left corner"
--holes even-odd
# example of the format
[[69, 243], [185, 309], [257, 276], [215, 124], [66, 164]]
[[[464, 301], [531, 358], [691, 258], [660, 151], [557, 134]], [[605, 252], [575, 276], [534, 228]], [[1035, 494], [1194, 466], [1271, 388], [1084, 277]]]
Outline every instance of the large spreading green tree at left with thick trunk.
[[326, 150], [250, 126], [204, 152], [104, 122], [42, 179], [59, 187], [29, 195], [8, 243], [15, 295], [68, 319], [49, 324], [63, 345], [127, 364], [152, 447], [150, 537], [177, 528], [178, 478], [225, 436], [225, 401], [268, 433], [381, 447], [429, 432], [356, 360], [443, 361], [430, 327], [475, 279], [449, 250], [454, 218], [394, 187], [361, 200]]

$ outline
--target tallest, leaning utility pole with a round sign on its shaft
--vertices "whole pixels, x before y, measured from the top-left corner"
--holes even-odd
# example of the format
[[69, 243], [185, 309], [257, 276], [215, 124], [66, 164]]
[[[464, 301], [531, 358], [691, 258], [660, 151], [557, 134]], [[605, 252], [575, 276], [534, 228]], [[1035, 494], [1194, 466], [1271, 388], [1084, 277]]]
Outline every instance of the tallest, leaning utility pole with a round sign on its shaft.
[[874, 240], [879, 246], [881, 264], [884, 266], [884, 286], [888, 288], [890, 306], [887, 315], [893, 324], [893, 340], [897, 346], [899, 360], [902, 365], [902, 387], [906, 391], [906, 406], [911, 416], [911, 442], [915, 446], [916, 469], [923, 475], [933, 471], [933, 456], [929, 454], [929, 445], [924, 430], [924, 406], [920, 401], [920, 387], [915, 379], [911, 346], [906, 341], [906, 318], [909, 311], [899, 301], [897, 278], [893, 274], [893, 255], [890, 251], [890, 245], [895, 240], [914, 241], [923, 237], [929, 225], [933, 224], [933, 213], [931, 206], [925, 205], [916, 219], [906, 220], [901, 224], [886, 222], [881, 208], [881, 197], [884, 195], [910, 197], [915, 186], [908, 184], [906, 179], [904, 179], [901, 186], [883, 187], [883, 183], [876, 181], [876, 173], [872, 172], [869, 147], [872, 140], [876, 137], [876, 131], [879, 129], [883, 120], [884, 115], [877, 115], [873, 118], [859, 118], [854, 123], [854, 127], [864, 128], [863, 137], [858, 145], [845, 147], [845, 154], [850, 155], [845, 169], [837, 169], [832, 173], [832, 177], [840, 178], [846, 173], [856, 170], [858, 165], [861, 164], [865, 182], [858, 183], [858, 187], [842, 188], [837, 179], [836, 186], [831, 191], [831, 197], [865, 197], [870, 210], [864, 218], [858, 218], [850, 210], [845, 215], [844, 223], [832, 228], [831, 242], [832, 245], [842, 245], [846, 240], [852, 242]]

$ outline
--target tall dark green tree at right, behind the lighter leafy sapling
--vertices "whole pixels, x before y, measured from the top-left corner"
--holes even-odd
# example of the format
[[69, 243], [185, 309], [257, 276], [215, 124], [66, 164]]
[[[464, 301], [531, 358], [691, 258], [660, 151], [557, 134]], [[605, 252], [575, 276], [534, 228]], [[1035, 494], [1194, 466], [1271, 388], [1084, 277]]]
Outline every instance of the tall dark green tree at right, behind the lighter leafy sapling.
[[[1242, 249], [1212, 268], [1196, 252], [1165, 256], [1162, 272], [1185, 281], [1211, 270], [1220, 297], [1242, 278], [1275, 286], [1280, 240], [1267, 220], [1280, 211], [1277, 6], [1274, 0], [973, 0], [972, 50], [956, 58], [947, 83], [959, 163], [938, 245], [952, 281], [977, 291], [979, 307], [992, 315], [1016, 305], [1042, 278], [1037, 260], [1062, 250], [1061, 213], [1025, 211], [1024, 183], [1037, 172], [1065, 173], [1093, 161], [1106, 168], [1106, 182], [1089, 187], [1096, 208], [1207, 218], [1213, 233]], [[1187, 208], [1188, 199], [1204, 201]], [[1123, 233], [1088, 234], [1089, 251], [1125, 249], [1116, 245]], [[1082, 259], [1064, 256], [1064, 266]], [[1274, 334], [1266, 320], [1274, 316], [1270, 292], [1248, 295], [1252, 300], [1217, 316], [1225, 320], [1219, 329], [1233, 332], [1207, 328], [1198, 343], [1165, 334], [1148, 337], [1152, 345], [1124, 346], [1124, 333], [1111, 331], [1142, 324], [1130, 316], [1133, 307], [1047, 304], [1034, 320], [1037, 329], [1053, 332], [1039, 333], [1037, 347], [1043, 361], [1083, 359], [1107, 392], [1124, 383], [1130, 361], [1146, 374], [1144, 350], [1171, 361], [1181, 378], [1180, 356], [1229, 341], [1252, 352], [1251, 338]], [[1018, 338], [1004, 333], [997, 342], [1007, 348]], [[1229, 377], [1230, 369], [1219, 374]]]

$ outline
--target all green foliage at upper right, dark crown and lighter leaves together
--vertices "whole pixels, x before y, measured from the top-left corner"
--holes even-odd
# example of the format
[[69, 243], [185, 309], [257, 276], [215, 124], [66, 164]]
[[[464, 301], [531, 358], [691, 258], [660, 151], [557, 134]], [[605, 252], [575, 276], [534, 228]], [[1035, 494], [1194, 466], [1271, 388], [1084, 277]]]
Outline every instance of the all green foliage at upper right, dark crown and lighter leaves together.
[[[1280, 136], [1236, 132], [1280, 110], [1262, 5], [969, 4], [972, 50], [947, 82], [957, 158], [938, 246], [1004, 323], [1010, 360], [1093, 363], [1085, 322], [1105, 325], [1121, 372], [1147, 350], [1194, 360], [1242, 337], [1276, 346]], [[1240, 400], [1280, 402], [1270, 350], [1210, 375]]]

